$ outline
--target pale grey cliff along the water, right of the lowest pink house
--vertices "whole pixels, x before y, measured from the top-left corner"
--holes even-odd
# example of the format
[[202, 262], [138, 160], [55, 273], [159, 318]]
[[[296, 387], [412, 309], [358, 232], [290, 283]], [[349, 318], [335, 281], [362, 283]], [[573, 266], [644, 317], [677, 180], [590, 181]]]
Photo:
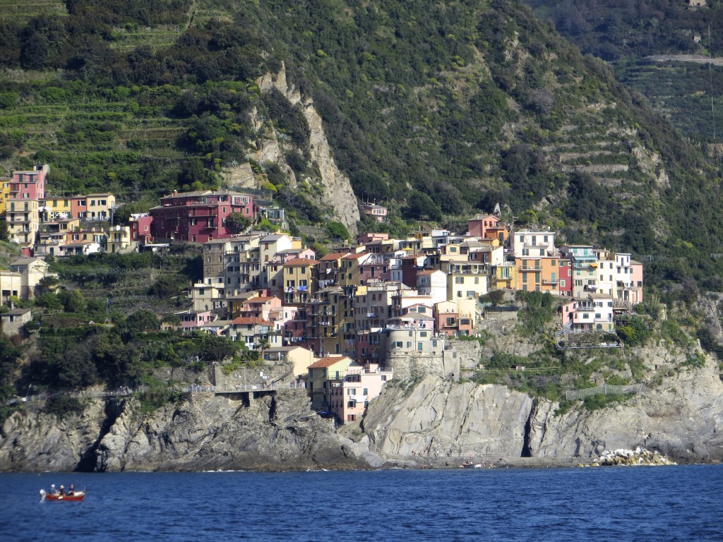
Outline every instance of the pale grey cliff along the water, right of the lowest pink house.
[[699, 369], [671, 372], [659, 386], [613, 408], [562, 415], [555, 414], [557, 402], [429, 375], [411, 390], [386, 389], [369, 405], [364, 431], [382, 455], [529, 455], [568, 461], [641, 446], [684, 462], [723, 460], [718, 369], [709, 360]]

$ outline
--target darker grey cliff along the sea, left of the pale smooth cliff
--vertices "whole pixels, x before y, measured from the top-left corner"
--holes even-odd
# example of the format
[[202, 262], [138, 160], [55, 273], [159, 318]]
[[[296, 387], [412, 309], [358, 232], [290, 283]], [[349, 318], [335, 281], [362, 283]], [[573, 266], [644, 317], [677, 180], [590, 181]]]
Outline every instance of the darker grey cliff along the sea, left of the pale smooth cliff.
[[103, 403], [56, 421], [16, 413], [0, 438], [0, 470], [287, 470], [370, 468], [382, 461], [335, 434], [309, 410], [304, 392], [278, 392], [244, 404], [206, 395], [143, 418], [120, 405], [104, 429]]

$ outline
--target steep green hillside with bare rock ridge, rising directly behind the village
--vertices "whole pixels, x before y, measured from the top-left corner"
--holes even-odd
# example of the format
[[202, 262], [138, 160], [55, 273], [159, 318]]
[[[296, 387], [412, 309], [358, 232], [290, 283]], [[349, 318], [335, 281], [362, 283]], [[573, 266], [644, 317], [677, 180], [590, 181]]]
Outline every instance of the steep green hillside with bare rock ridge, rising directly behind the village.
[[51, 190], [145, 198], [131, 210], [240, 175], [295, 210], [296, 233], [354, 222], [348, 179], [389, 205], [390, 228], [502, 202], [568, 241], [685, 253], [649, 276], [718, 274], [706, 158], [521, 4], [67, 7], [0, 29], [1, 152], [51, 163]]

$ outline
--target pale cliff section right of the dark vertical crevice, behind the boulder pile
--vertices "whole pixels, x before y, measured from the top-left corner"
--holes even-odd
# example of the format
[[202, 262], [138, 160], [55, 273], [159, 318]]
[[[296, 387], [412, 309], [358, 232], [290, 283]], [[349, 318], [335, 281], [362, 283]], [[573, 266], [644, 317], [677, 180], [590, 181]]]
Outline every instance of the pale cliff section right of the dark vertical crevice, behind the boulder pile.
[[532, 455], [596, 457], [639, 445], [681, 461], [723, 460], [723, 383], [712, 363], [612, 409], [552, 416], [555, 408], [539, 402], [531, 412]]

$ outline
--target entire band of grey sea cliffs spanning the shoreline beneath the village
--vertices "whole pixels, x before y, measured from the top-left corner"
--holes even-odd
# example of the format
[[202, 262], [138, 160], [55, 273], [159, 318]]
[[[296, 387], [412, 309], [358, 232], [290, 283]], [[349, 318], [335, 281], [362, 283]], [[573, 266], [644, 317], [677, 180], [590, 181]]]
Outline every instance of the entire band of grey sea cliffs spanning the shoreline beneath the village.
[[661, 352], [646, 359], [667, 375], [658, 384], [592, 412], [557, 414], [556, 402], [437, 374], [394, 381], [370, 403], [357, 442], [316, 416], [301, 390], [245, 401], [193, 395], [145, 417], [134, 400], [93, 401], [62, 420], [29, 406], [0, 430], [0, 471], [378, 468], [470, 455], [569, 463], [638, 446], [682, 462], [722, 461], [716, 365], [672, 370]]

